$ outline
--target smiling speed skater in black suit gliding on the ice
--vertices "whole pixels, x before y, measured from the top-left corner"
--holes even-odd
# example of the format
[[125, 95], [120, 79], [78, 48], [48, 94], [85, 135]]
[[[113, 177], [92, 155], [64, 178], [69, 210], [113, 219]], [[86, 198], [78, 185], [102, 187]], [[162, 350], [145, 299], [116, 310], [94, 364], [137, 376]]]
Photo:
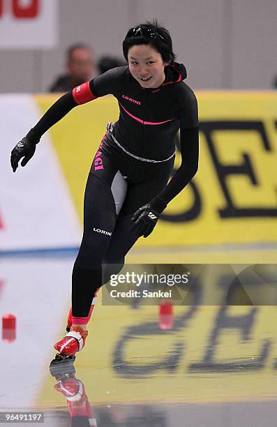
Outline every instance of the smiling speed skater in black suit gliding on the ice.
[[[72, 274], [68, 334], [54, 345], [57, 361], [75, 359], [87, 338], [103, 264], [123, 266], [139, 237], [148, 237], [160, 213], [189, 183], [198, 167], [195, 94], [184, 83], [172, 39], [156, 20], [128, 30], [123, 40], [128, 65], [113, 68], [65, 93], [11, 153], [13, 172], [33, 156], [40, 137], [77, 105], [112, 94], [119, 119], [93, 158], [84, 194], [84, 233]], [[180, 130], [181, 166], [172, 179], [175, 136]]]

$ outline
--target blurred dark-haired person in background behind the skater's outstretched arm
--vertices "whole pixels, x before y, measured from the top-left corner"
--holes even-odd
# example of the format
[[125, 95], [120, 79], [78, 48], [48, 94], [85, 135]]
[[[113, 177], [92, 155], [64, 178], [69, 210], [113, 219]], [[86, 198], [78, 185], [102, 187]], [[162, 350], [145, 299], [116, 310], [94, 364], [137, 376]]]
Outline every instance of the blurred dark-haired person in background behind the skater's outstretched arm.
[[68, 92], [90, 80], [96, 74], [96, 65], [91, 48], [84, 43], [68, 47], [66, 74], [57, 77], [50, 92]]

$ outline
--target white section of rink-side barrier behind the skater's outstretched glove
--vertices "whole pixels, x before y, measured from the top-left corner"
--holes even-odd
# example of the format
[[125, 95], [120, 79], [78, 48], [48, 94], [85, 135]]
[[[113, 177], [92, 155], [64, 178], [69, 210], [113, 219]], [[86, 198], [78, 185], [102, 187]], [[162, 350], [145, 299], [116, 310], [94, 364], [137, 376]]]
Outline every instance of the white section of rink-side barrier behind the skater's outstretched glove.
[[10, 151], [40, 118], [33, 96], [1, 95], [0, 251], [77, 247], [81, 224], [50, 135], [13, 173]]

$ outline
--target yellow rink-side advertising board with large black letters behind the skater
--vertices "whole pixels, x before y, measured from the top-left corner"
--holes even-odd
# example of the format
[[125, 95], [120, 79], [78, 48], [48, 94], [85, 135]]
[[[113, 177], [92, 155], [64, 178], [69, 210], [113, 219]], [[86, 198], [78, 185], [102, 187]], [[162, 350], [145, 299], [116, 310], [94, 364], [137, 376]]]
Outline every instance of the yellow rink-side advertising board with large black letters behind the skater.
[[[168, 205], [156, 230], [137, 246], [257, 244], [277, 241], [277, 93], [196, 93], [200, 165], [193, 181]], [[56, 98], [36, 96], [41, 112]], [[84, 185], [117, 101], [99, 98], [75, 108], [50, 130], [63, 173], [82, 218]], [[177, 152], [175, 167], [180, 163]]]

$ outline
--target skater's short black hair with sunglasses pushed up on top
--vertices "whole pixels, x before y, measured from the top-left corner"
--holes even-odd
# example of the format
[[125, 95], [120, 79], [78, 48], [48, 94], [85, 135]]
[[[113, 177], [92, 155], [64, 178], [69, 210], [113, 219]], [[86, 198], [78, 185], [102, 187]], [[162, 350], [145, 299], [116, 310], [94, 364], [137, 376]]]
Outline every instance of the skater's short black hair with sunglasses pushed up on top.
[[[140, 31], [140, 28], [149, 29], [149, 35], [144, 35], [144, 31]], [[128, 61], [128, 50], [133, 45], [151, 45], [161, 54], [163, 62], [172, 62], [176, 58], [172, 50], [170, 33], [164, 27], [160, 27], [157, 20], [144, 22], [128, 30], [123, 40], [123, 55], [126, 61]]]

